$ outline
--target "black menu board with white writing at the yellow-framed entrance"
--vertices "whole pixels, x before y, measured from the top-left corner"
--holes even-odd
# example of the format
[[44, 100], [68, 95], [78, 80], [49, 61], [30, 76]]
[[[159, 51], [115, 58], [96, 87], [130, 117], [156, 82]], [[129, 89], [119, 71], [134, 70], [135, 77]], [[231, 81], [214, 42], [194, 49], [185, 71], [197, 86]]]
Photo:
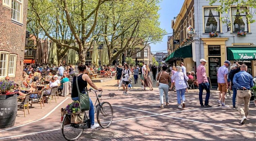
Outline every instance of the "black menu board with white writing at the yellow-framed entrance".
[[220, 67], [220, 57], [209, 57], [209, 77], [212, 84], [217, 84], [217, 72]]

